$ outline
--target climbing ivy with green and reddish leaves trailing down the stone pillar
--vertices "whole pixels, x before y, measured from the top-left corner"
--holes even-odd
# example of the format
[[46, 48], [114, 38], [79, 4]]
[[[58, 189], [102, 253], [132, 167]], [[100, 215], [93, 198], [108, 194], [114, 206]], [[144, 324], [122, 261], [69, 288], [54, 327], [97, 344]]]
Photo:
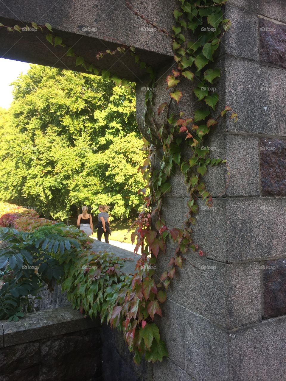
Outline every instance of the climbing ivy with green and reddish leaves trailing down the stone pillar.
[[[152, 125], [152, 129], [148, 129], [148, 142], [157, 148], [161, 147], [163, 154], [160, 165], [154, 166], [157, 151], [150, 149], [143, 166], [138, 169], [143, 173], [146, 187], [138, 191], [144, 196], [144, 205], [133, 224], [136, 226], [135, 232], [132, 233], [132, 242], [136, 242], [135, 252], [141, 247], [142, 253], [137, 262], [135, 274], [125, 278], [120, 274], [118, 281], [115, 282], [118, 286], [112, 288], [110, 295], [105, 293], [104, 298], [98, 297], [93, 302], [96, 304], [95, 307], [90, 305], [89, 299], [81, 304], [80, 298], [84, 297], [77, 288], [73, 289], [73, 297], [77, 300], [75, 306], [82, 312], [88, 313], [91, 317], [99, 312], [102, 318], [111, 323], [112, 327], [117, 327], [124, 332], [125, 341], [130, 351], [134, 352], [134, 361], [137, 364], [142, 357], [155, 362], [162, 361], [162, 358], [167, 356], [165, 343], [160, 337], [154, 318], [155, 315], [162, 316], [160, 305], [167, 299], [166, 291], [177, 268], [182, 268], [183, 262], [188, 261], [187, 251], [191, 249], [198, 251], [200, 256], [204, 255], [198, 244], [193, 242], [191, 228], [191, 225], [195, 223], [195, 215], [198, 213], [197, 200], [200, 198], [207, 206], [212, 205], [212, 196], [207, 191], [202, 177], [207, 172], [207, 166], [226, 162], [220, 158], [208, 157], [209, 150], [204, 149], [204, 139], [227, 112], [230, 112], [230, 118], [235, 122], [238, 119], [230, 106], [225, 106], [223, 110], [217, 112], [219, 94], [211, 89], [221, 75], [220, 70], [215, 67], [215, 54], [223, 34], [231, 26], [230, 20], [223, 18], [223, 5], [226, 2], [227, 0], [190, 0], [189, 2], [179, 0], [177, 3], [180, 6], [174, 10], [174, 26], [172, 31], [167, 32], [139, 14], [125, 1], [127, 7], [138, 17], [172, 38], [175, 65], [166, 78], [170, 101], [162, 103], [157, 110], [154, 110], [155, 95], [152, 91], [157, 87], [156, 72], [146, 62], [140, 60], [134, 47], [122, 44], [117, 50], [106, 50], [96, 54], [96, 59], [101, 59], [106, 54], [116, 55], [130, 51], [135, 62], [149, 74], [150, 82], [145, 94], [145, 123], [147, 126]], [[3, 24], [0, 26], [10, 31], [21, 32], [19, 26], [13, 28]], [[88, 63], [84, 57], [77, 56], [71, 47], [63, 43], [61, 37], [55, 36], [50, 24], [37, 26], [32, 23], [32, 27], [48, 30], [47, 41], [55, 47], [60, 45], [66, 48], [66, 55], [74, 57], [75, 66], [82, 65], [87, 72], [100, 74], [94, 63]], [[126, 79], [118, 78], [108, 70], [102, 70], [101, 75], [104, 79], [114, 80], [118, 86], [130, 86]], [[199, 107], [194, 111], [194, 115], [186, 115], [184, 112], [175, 114], [172, 111], [174, 107], [170, 107], [172, 102], [178, 104], [184, 97], [182, 88], [186, 85], [186, 81], [196, 82], [194, 96], [198, 99]], [[156, 116], [166, 109], [166, 122], [158, 125]], [[191, 157], [188, 159], [182, 155], [186, 145], [191, 152]], [[170, 177], [175, 166], [178, 166], [185, 176], [190, 195], [187, 202], [189, 213], [183, 227], [170, 228], [161, 217], [161, 208], [165, 194], [171, 190]], [[158, 277], [155, 266], [159, 252], [164, 254], [167, 243], [170, 242], [175, 244], [174, 256], [170, 258], [169, 270]], [[97, 261], [100, 262], [100, 258]], [[110, 263], [108, 266], [111, 266]], [[114, 270], [114, 266], [108, 268]], [[104, 275], [104, 272], [97, 272], [92, 281], [99, 282]], [[76, 269], [71, 276], [73, 276], [73, 284], [78, 283], [80, 290], [82, 290], [80, 284], [87, 280], [90, 282], [88, 272], [83, 274]], [[65, 287], [68, 282], [68, 280], [65, 281]], [[96, 290], [99, 292], [98, 288]]]

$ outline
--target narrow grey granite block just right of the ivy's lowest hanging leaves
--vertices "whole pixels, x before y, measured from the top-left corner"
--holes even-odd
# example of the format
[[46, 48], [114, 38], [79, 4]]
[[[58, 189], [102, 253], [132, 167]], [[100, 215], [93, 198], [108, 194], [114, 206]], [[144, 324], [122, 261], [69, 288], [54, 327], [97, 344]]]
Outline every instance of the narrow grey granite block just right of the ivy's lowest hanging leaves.
[[158, 318], [156, 323], [160, 327], [161, 338], [166, 343], [169, 359], [185, 369], [184, 308], [171, 300], [163, 303], [161, 308], [162, 318]]

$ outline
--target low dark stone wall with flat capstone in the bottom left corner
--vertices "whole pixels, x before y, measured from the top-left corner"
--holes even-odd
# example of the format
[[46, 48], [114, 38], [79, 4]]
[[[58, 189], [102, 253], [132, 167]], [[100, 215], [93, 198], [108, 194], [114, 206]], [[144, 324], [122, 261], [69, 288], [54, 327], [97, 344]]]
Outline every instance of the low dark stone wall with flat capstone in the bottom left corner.
[[1, 381], [100, 381], [100, 323], [71, 307], [0, 322]]

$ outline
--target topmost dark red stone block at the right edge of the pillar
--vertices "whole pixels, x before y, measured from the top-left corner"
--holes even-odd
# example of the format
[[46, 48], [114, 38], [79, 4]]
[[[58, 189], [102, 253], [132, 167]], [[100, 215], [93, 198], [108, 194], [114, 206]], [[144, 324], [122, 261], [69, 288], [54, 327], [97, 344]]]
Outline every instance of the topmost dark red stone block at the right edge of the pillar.
[[286, 67], [286, 25], [259, 19], [260, 61]]

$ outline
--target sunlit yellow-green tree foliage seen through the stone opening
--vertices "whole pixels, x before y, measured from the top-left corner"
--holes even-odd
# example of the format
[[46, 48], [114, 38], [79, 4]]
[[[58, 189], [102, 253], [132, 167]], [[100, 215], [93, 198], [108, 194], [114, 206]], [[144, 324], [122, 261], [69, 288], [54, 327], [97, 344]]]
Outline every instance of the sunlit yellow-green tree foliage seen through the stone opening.
[[129, 216], [141, 205], [135, 94], [112, 81], [31, 65], [0, 109], [0, 200], [54, 219], [81, 205]]

